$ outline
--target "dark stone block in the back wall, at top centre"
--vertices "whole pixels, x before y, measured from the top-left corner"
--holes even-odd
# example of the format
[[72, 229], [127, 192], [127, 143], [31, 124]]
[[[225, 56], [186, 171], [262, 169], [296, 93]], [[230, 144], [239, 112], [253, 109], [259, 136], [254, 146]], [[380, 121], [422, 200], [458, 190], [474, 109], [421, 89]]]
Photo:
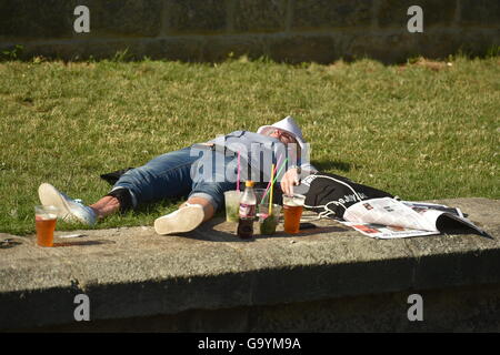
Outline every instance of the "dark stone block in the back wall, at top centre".
[[236, 0], [234, 32], [279, 32], [287, 21], [286, 0]]

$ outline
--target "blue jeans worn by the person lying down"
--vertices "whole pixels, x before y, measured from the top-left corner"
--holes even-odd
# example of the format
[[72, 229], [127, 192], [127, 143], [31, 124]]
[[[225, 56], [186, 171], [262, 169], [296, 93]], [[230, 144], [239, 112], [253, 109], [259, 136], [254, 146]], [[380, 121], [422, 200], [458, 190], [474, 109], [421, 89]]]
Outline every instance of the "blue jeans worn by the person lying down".
[[[203, 197], [216, 211], [221, 209], [224, 191], [236, 190], [236, 169], [227, 168], [236, 168], [237, 156], [213, 152], [214, 159], [220, 154], [217, 156], [219, 163], [209, 166], [211, 179], [207, 179], [208, 172], [200, 173], [200, 169], [203, 169], [200, 166], [201, 159], [199, 155], [192, 156], [191, 148], [159, 155], [146, 165], [129, 170], [121, 175], [113, 189], [128, 189], [136, 200], [134, 207], [142, 203], [189, 196]], [[211, 151], [208, 149], [208, 152]]]

